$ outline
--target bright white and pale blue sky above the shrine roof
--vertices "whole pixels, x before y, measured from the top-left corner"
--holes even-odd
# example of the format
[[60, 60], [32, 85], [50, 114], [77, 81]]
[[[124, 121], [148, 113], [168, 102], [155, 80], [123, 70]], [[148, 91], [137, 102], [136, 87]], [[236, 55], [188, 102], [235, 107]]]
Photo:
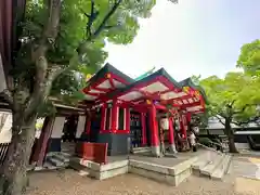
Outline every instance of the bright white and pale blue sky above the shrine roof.
[[131, 77], [153, 66], [176, 80], [236, 70], [244, 43], [260, 38], [260, 0], [157, 0], [134, 41], [108, 44], [107, 62]]

